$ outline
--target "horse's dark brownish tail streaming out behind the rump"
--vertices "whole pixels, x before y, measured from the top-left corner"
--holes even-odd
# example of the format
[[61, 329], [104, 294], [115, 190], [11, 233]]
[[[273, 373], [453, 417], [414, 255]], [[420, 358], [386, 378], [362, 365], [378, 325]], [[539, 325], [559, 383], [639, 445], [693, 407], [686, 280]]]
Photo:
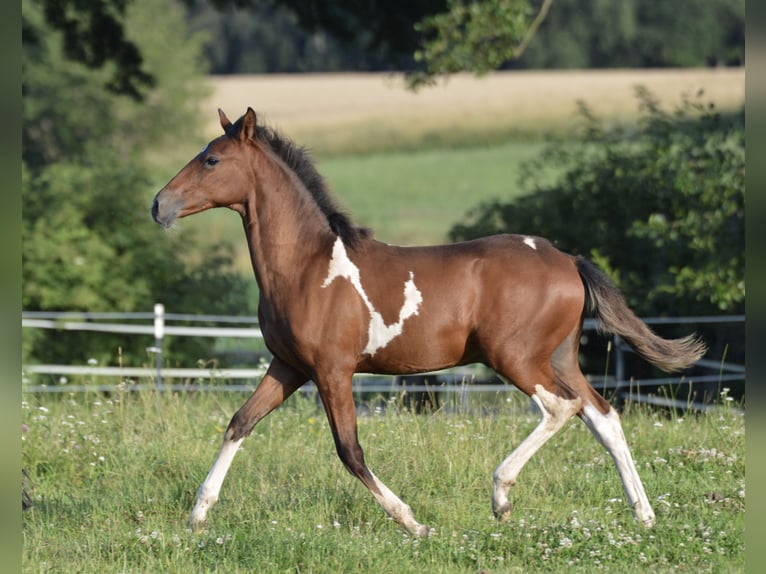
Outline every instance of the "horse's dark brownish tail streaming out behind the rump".
[[656, 335], [630, 310], [620, 291], [601, 270], [583, 257], [577, 257], [575, 264], [599, 331], [619, 335], [644, 359], [667, 372], [685, 369], [705, 354], [705, 344], [694, 335], [681, 339]]

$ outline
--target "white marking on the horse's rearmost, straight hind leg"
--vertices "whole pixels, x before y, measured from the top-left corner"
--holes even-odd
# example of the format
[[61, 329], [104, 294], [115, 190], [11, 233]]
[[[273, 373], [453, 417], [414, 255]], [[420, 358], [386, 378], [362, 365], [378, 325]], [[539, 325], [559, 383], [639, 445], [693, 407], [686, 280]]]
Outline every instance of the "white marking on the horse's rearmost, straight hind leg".
[[638, 476], [617, 411], [609, 409], [609, 412], [604, 415], [593, 405], [585, 405], [582, 420], [612, 455], [612, 460], [622, 479], [625, 496], [628, 497], [628, 503], [633, 508], [636, 520], [647, 527], [654, 525], [654, 511], [644, 491], [641, 477]]

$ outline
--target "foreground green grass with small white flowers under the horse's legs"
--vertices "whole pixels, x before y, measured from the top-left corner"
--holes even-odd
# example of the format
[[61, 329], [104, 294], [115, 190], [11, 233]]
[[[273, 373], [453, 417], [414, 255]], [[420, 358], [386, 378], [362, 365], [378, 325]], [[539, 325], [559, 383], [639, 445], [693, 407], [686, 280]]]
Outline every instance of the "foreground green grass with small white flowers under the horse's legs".
[[192, 532], [196, 489], [243, 395], [26, 395], [23, 571], [743, 571], [742, 415], [624, 415], [654, 529], [634, 523], [614, 465], [578, 421], [526, 466], [498, 524], [492, 471], [537, 424], [528, 400], [509, 396], [513, 417], [392, 404], [360, 418], [371, 468], [437, 530], [418, 540], [343, 470], [303, 396], [255, 428], [207, 528]]

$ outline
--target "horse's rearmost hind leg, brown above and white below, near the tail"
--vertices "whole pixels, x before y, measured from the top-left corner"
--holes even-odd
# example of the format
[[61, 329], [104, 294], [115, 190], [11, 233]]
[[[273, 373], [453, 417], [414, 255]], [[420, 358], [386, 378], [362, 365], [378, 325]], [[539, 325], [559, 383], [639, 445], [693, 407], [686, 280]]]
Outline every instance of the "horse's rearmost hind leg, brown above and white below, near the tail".
[[636, 520], [649, 527], [654, 524], [654, 511], [641, 483], [628, 442], [620, 424], [620, 415], [591, 386], [577, 363], [579, 331], [570, 336], [551, 357], [556, 374], [583, 399], [580, 418], [596, 440], [611, 455], [622, 480], [625, 496], [633, 508]]

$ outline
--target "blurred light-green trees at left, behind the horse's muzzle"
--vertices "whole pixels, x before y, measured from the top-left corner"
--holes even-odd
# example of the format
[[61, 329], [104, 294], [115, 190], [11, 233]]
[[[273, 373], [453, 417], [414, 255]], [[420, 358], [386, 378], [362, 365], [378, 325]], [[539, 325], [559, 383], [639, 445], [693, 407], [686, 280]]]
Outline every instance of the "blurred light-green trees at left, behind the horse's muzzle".
[[[134, 311], [156, 301], [186, 312], [247, 308], [244, 279], [229, 271], [222, 246], [163, 233], [149, 216], [153, 156], [196, 134], [204, 95], [200, 38], [183, 33], [182, 10], [137, 0], [125, 13], [125, 37], [142, 46], [157, 86], [141, 89], [137, 102], [105, 89], [112, 70], [67, 58], [42, 7], [23, 5], [35, 38], [22, 46], [23, 308]], [[113, 361], [118, 347], [126, 360], [146, 358], [145, 341], [135, 337], [30, 330], [24, 337], [27, 359]], [[199, 341], [171, 344], [171, 356], [206, 356]]]

